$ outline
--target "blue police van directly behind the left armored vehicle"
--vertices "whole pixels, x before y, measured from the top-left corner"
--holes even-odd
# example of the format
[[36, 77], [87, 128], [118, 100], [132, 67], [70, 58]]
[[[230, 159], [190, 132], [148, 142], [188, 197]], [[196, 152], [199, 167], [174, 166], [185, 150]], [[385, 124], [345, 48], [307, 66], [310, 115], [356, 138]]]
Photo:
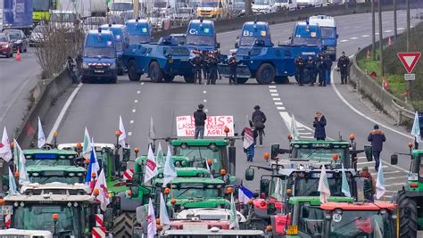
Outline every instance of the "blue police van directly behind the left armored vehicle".
[[153, 41], [152, 26], [145, 19], [131, 19], [125, 22], [129, 35], [129, 45], [150, 43]]

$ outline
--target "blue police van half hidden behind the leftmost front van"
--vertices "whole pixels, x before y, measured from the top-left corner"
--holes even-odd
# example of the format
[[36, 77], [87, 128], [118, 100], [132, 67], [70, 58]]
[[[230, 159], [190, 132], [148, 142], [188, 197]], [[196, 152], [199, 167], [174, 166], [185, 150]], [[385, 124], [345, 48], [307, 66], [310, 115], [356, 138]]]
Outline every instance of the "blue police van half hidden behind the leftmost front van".
[[127, 45], [129, 45], [127, 27], [121, 24], [106, 24], [101, 26], [101, 28], [104, 30], [110, 30], [113, 33], [116, 55], [118, 56], [118, 75], [122, 75], [125, 72], [125, 68], [123, 67], [122, 63], [123, 49], [125, 49]]

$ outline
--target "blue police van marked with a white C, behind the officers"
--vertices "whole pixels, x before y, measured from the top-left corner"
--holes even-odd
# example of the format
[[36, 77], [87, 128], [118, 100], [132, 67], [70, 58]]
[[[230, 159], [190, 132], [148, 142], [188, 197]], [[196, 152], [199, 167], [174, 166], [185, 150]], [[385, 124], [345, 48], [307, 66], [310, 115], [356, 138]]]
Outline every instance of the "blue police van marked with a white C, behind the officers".
[[217, 42], [214, 21], [203, 19], [189, 21], [186, 45], [191, 50], [213, 51], [219, 49], [220, 44]]

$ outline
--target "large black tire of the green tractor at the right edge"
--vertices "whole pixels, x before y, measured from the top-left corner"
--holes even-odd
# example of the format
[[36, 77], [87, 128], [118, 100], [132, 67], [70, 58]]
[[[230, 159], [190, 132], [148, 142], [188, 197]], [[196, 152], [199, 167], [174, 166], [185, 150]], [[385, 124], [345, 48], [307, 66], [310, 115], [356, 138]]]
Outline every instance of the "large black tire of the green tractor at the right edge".
[[415, 238], [417, 237], [417, 203], [407, 197], [405, 191], [399, 191], [397, 196], [397, 204], [400, 209], [400, 237]]

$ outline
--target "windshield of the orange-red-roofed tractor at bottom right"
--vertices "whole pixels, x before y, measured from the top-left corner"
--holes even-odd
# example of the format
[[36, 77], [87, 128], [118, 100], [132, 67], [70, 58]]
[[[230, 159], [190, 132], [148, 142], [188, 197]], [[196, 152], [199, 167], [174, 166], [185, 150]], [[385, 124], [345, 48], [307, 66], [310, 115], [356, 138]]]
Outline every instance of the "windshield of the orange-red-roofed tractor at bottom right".
[[393, 221], [389, 213], [376, 210], [344, 210], [332, 215], [329, 238], [394, 237]]

